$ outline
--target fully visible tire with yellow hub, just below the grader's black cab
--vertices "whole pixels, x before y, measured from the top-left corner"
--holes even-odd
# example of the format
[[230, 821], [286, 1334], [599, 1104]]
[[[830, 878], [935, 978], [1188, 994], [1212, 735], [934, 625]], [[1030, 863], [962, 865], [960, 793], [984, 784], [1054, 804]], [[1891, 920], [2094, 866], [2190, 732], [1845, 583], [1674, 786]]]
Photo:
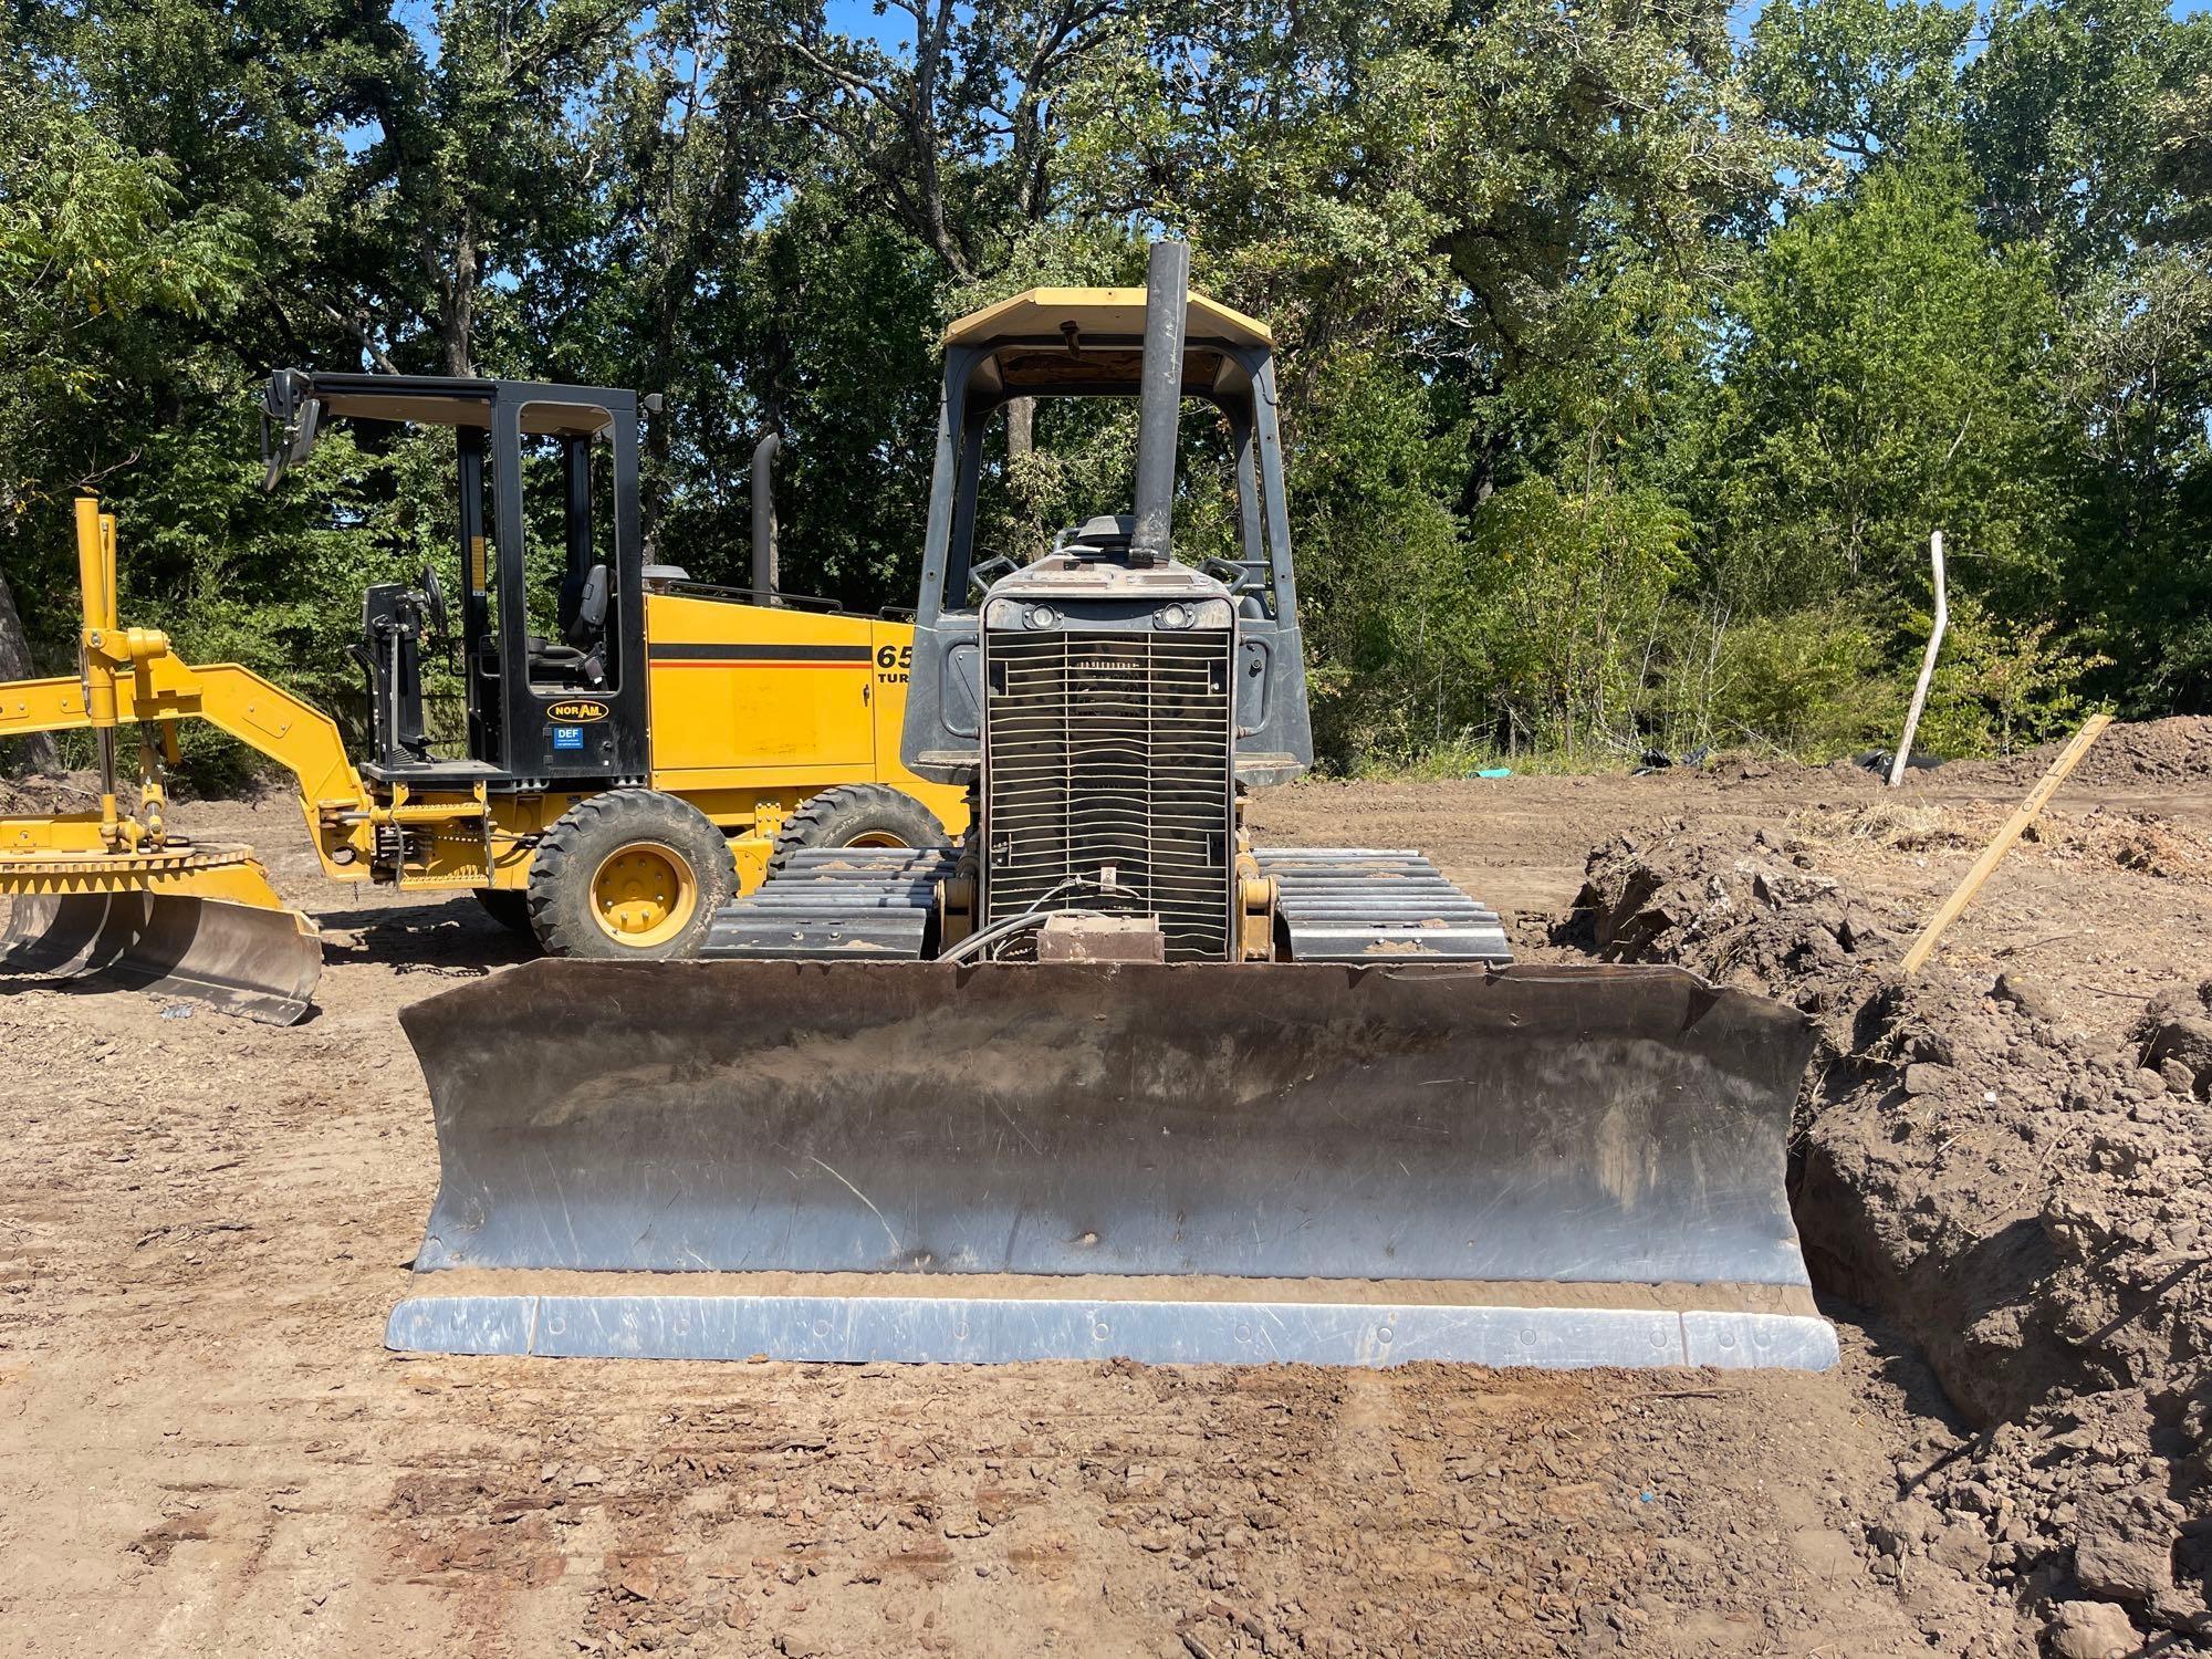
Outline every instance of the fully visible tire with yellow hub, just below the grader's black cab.
[[608, 790], [568, 807], [531, 858], [531, 931], [546, 956], [664, 962], [697, 956], [737, 891], [714, 823], [659, 790]]

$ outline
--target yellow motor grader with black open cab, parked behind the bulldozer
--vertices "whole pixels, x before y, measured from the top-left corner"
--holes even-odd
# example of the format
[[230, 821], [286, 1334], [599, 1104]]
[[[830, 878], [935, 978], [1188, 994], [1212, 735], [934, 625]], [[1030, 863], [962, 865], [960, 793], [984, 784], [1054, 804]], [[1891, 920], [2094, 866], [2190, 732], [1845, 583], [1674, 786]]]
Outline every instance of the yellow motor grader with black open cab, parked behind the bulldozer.
[[[898, 763], [905, 622], [776, 591], [768, 453], [754, 460], [754, 586], [646, 564], [633, 392], [279, 369], [268, 480], [332, 420], [456, 434], [458, 619], [436, 566], [363, 599], [367, 757], [336, 721], [234, 664], [192, 666], [117, 626], [115, 518], [77, 502], [80, 672], [0, 686], [0, 737], [88, 728], [100, 812], [0, 818], [0, 973], [111, 982], [288, 1024], [321, 975], [314, 925], [246, 847], [166, 825], [164, 752], [204, 719], [283, 765], [323, 874], [473, 891], [557, 956], [690, 956], [717, 907], [776, 860], [936, 845], [964, 794]], [[542, 544], [538, 544], [542, 542]], [[533, 575], [544, 566], [553, 580]], [[540, 630], [542, 628], [542, 630]], [[449, 659], [467, 734], [438, 752], [422, 670]], [[117, 739], [139, 726], [139, 803]]]

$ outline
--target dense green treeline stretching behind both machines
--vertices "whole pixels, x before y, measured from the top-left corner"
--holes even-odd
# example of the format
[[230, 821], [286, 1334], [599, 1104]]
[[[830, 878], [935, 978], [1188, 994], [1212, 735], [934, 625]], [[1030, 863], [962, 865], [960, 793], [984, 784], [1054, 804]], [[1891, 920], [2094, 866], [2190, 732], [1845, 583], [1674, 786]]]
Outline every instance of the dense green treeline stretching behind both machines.
[[[2212, 708], [2212, 20], [2163, 0], [55, 0], [0, 46], [0, 675], [73, 653], [97, 487], [133, 617], [352, 688], [445, 438], [263, 495], [285, 363], [666, 394], [646, 533], [712, 580], [774, 429], [785, 582], [905, 602], [942, 325], [1168, 230], [1276, 330], [1329, 765], [1893, 741], [1931, 529], [1924, 743]], [[1121, 507], [1130, 442], [1002, 422], [984, 544]]]

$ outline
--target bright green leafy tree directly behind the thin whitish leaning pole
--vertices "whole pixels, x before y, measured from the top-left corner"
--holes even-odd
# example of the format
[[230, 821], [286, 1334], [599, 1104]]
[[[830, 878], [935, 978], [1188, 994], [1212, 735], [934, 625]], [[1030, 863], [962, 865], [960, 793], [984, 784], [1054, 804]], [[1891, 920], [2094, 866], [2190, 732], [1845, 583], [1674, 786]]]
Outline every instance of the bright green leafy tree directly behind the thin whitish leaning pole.
[[1739, 608], [1916, 591], [1942, 529], [1964, 588], [2044, 615], [2066, 549], [2057, 305], [1997, 252], [1936, 144], [1805, 208], [1730, 299], [1710, 447], [1712, 580]]

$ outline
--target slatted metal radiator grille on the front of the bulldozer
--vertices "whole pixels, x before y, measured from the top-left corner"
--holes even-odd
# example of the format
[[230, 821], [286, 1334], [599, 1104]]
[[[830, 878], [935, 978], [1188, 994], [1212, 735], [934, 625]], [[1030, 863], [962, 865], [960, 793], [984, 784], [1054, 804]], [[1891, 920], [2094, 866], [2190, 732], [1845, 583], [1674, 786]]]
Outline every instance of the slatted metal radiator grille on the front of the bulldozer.
[[[1157, 916], [1170, 962], [1225, 960], [1230, 635], [989, 633], [984, 681], [984, 922]], [[1106, 865], [1130, 896], [1046, 900]]]

